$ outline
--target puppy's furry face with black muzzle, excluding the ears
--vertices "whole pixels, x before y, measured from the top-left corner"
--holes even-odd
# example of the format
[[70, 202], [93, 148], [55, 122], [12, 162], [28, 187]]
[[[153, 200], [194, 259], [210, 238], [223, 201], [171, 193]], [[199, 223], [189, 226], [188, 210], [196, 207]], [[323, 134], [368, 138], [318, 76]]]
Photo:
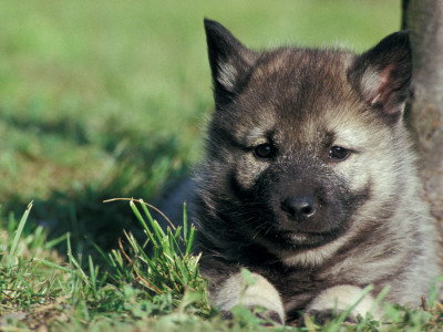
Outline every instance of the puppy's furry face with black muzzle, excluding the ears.
[[212, 151], [227, 162], [236, 214], [248, 216], [238, 222], [253, 239], [320, 246], [347, 230], [369, 196], [369, 180], [357, 184], [352, 169], [371, 136], [368, 125], [380, 121], [361, 115], [365, 105], [348, 82], [348, 63], [344, 53], [269, 53], [216, 112]]

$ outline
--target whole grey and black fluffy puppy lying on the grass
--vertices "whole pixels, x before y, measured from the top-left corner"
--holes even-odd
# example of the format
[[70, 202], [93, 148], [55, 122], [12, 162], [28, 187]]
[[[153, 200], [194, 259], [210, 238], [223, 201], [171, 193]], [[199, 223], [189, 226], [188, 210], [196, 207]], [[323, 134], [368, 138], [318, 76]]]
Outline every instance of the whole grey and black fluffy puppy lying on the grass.
[[[278, 322], [416, 305], [440, 273], [437, 229], [403, 124], [408, 32], [368, 52], [256, 52], [205, 20], [215, 112], [194, 181], [200, 269], [225, 312]], [[240, 268], [251, 271], [248, 284]]]

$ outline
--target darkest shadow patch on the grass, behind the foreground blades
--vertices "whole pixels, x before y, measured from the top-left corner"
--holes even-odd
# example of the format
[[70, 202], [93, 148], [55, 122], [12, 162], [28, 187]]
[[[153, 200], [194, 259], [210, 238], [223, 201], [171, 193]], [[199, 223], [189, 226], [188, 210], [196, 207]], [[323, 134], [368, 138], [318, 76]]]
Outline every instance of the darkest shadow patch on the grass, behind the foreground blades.
[[[184, 173], [184, 172], [183, 172]], [[182, 173], [179, 173], [182, 174]], [[173, 178], [179, 174], [172, 175]], [[101, 259], [93, 243], [103, 251], [119, 248], [119, 238], [125, 242], [124, 230], [132, 232], [140, 243], [146, 240], [140, 222], [130, 208], [128, 201], [103, 200], [111, 198], [143, 198], [151, 204], [158, 204], [158, 199], [146, 197], [146, 190], [140, 186], [127, 197], [121, 195], [119, 180], [113, 181], [105, 188], [94, 189], [92, 187], [75, 194], [60, 191], [52, 193], [45, 200], [35, 199], [29, 222], [24, 234], [33, 232], [37, 226], [42, 226], [48, 232], [48, 240], [62, 237], [66, 232], [71, 235], [73, 252], [86, 257], [91, 255], [94, 260]], [[157, 194], [161, 191], [152, 193]], [[155, 195], [156, 196], [156, 195]], [[27, 203], [16, 197], [9, 203], [4, 211], [13, 211], [16, 219], [23, 214], [21, 208]], [[158, 215], [156, 215], [158, 217]], [[161, 221], [161, 220], [159, 220]], [[61, 255], [65, 255], [68, 247], [63, 240], [56, 246]], [[86, 262], [86, 260], [84, 260]]]

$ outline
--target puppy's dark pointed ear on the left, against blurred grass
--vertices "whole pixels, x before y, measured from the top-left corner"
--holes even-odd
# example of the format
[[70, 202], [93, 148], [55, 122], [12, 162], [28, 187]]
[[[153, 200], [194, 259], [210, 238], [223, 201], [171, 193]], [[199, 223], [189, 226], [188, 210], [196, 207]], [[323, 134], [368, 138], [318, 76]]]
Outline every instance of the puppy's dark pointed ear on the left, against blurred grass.
[[216, 21], [205, 19], [205, 30], [215, 103], [228, 103], [243, 90], [258, 55]]

